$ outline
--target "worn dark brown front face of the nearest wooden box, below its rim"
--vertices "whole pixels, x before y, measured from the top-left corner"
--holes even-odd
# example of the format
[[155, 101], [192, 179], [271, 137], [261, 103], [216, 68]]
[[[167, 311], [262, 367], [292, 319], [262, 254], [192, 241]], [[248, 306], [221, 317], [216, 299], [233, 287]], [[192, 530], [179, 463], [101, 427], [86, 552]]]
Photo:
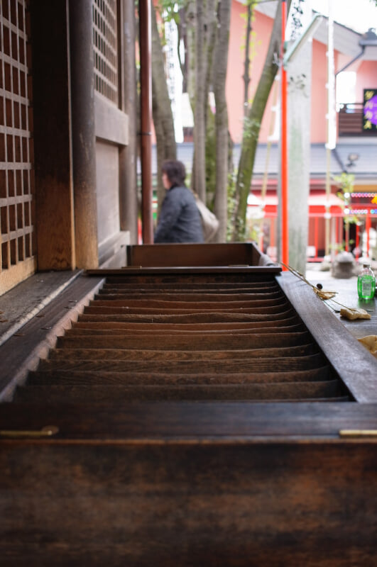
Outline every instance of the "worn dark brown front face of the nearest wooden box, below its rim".
[[9, 457], [28, 479], [6, 478], [7, 567], [373, 565], [376, 499], [365, 485], [376, 493], [377, 463], [365, 444], [278, 454], [263, 444], [18, 445]]

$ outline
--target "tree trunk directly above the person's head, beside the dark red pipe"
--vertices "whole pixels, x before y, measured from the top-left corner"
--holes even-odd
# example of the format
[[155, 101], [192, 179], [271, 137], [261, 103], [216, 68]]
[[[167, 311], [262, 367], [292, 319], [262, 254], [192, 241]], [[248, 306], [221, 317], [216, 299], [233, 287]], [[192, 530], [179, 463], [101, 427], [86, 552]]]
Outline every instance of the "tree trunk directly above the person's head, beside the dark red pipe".
[[177, 159], [173, 113], [166, 82], [163, 49], [158, 34], [155, 8], [151, 0], [152, 19], [152, 110], [157, 147], [157, 198], [158, 208], [165, 196], [160, 171], [165, 159]]

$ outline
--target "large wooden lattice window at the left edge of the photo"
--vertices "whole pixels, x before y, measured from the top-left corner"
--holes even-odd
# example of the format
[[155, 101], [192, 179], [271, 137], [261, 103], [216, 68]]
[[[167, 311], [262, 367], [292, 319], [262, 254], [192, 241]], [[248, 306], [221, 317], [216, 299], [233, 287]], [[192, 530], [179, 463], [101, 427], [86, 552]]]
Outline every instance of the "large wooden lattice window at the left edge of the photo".
[[0, 272], [34, 253], [27, 4], [28, 0], [0, 3]]

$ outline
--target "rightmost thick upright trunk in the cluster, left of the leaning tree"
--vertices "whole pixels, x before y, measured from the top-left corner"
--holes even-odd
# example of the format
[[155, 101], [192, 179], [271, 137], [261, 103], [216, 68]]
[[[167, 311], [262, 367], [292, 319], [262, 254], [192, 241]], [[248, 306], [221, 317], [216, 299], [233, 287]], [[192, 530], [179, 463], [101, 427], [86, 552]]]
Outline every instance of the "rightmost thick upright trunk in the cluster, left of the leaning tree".
[[228, 63], [229, 24], [231, 0], [219, 2], [219, 27], [214, 55], [214, 99], [216, 102], [216, 193], [214, 213], [219, 219], [216, 242], [226, 241], [227, 186], [228, 186], [228, 109], [226, 106], [225, 82]]

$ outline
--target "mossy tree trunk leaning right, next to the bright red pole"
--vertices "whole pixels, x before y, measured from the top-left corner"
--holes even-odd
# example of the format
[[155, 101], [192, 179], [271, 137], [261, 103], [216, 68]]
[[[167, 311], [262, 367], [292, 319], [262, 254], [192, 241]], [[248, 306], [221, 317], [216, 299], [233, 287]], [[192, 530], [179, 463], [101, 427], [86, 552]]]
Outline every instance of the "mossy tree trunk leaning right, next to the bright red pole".
[[[288, 11], [290, 0], [288, 0]], [[275, 21], [271, 33], [270, 45], [266, 61], [263, 66], [261, 79], [258, 82], [253, 104], [248, 111], [244, 135], [242, 138], [241, 155], [239, 158], [239, 171], [236, 181], [236, 206], [234, 215], [233, 240], [244, 240], [246, 227], [247, 198], [250, 192], [251, 177], [253, 174], [256, 147], [258, 145], [259, 131], [263, 113], [266, 108], [268, 96], [273, 86], [275, 75], [278, 72], [278, 57], [280, 56], [281, 45], [281, 3], [279, 2], [276, 10]]]

